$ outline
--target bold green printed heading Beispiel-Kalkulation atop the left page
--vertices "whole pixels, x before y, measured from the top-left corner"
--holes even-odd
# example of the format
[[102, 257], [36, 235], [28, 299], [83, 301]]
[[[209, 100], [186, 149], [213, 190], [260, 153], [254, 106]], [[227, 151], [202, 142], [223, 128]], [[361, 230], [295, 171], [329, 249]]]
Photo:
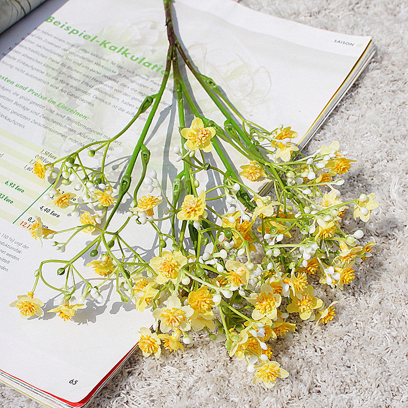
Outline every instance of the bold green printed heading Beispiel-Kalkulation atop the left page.
[[[101, 39], [97, 35], [90, 35], [90, 34], [85, 34], [86, 30], [77, 30], [73, 28], [71, 25], [68, 25], [68, 22], [61, 22], [55, 19], [55, 17], [51, 16], [45, 20], [45, 22], [50, 22], [53, 23], [56, 27], [59, 27], [60, 29], [64, 30], [67, 32], [68, 35], [74, 35], [77, 37], [81, 37], [84, 40], [87, 40], [89, 42], [97, 43], [100, 47], [103, 47], [105, 49], [109, 49], [110, 51], [119, 54], [123, 56], [126, 59], [129, 59], [131, 61], [136, 62], [137, 64], [141, 64], [146, 68], [151, 69], [152, 71], [160, 72], [162, 75], [166, 72], [163, 65], [158, 65], [158, 64], [153, 64], [149, 61], [146, 61], [145, 57], [136, 57], [134, 52], [125, 47], [125, 46], [120, 46], [117, 44], [114, 44], [112, 41], [109, 41], [107, 39]], [[171, 74], [170, 74], [171, 76]]]

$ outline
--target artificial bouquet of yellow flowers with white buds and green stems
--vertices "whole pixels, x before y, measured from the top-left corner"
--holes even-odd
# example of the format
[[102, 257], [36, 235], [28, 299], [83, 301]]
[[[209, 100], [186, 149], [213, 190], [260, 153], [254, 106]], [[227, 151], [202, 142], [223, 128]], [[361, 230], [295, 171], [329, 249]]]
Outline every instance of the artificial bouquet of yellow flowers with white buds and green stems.
[[[344, 231], [344, 214], [352, 211], [354, 219], [366, 222], [378, 203], [372, 193], [342, 199], [341, 175], [352, 160], [341, 154], [338, 142], [304, 156], [293, 143], [297, 133], [291, 127], [269, 131], [242, 117], [186, 55], [173, 29], [170, 3], [164, 0], [169, 47], [157, 93], [146, 97], [130, 123], [109, 140], [89, 143], [52, 163], [37, 158], [33, 172], [52, 183], [46, 199], [58, 208], [69, 207], [78, 222], [53, 231], [37, 218], [31, 235], [41, 243], [52, 240], [60, 252], [78, 234], [91, 238], [69, 259], [41, 262], [28, 294], [10, 305], [24, 318], [43, 316], [44, 303], [35, 292], [37, 285], [45, 284], [62, 300], [48, 312], [69, 321], [85, 299], [103, 301], [101, 288], [110, 283], [123, 302], [139, 311], [151, 310], [156, 319], [152, 330], [140, 330], [144, 356], [159, 357], [162, 349], [183, 351], [195, 331], [205, 330], [211, 340], [224, 342], [230, 356], [245, 359], [253, 382], [270, 388], [276, 378], [289, 375], [274, 361], [272, 341], [294, 331], [298, 318], [316, 326], [333, 319], [336, 302], [324, 304], [319, 286], [343, 290], [355, 277], [355, 265], [371, 256], [374, 243], [361, 242], [361, 230]], [[194, 75], [224, 116], [223, 123], [197, 106], [179, 64]], [[171, 189], [149, 168], [145, 144], [170, 77], [180, 126], [173, 136], [180, 145], [170, 155], [182, 164]], [[110, 146], [141, 116], [145, 124], [133, 155], [119, 180], [112, 180], [106, 171]], [[247, 159], [239, 174], [220, 141]], [[222, 166], [209, 159], [210, 152]], [[97, 155], [98, 166], [87, 166], [86, 155]], [[142, 171], [135, 176], [137, 161]], [[218, 177], [205, 188], [202, 180], [209, 171]], [[259, 181], [269, 183], [267, 195], [253, 188]], [[142, 185], [147, 194], [139, 193]], [[121, 206], [129, 197], [132, 203], [123, 223], [113, 227], [112, 220], [123, 213]], [[169, 228], [161, 227], [164, 221]], [[132, 237], [123, 234], [132, 223], [140, 234], [145, 228], [155, 230], [156, 256], [146, 259]], [[86, 266], [103, 277], [97, 285], [78, 266], [86, 256], [93, 259]], [[44, 271], [50, 267], [61, 279], [60, 286]]]

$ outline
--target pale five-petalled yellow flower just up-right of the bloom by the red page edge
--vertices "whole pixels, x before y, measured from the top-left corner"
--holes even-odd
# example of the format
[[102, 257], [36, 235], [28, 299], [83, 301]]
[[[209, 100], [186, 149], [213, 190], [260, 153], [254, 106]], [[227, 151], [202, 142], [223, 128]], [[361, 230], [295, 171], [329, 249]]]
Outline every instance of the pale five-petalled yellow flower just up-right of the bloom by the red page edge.
[[177, 296], [169, 296], [165, 308], [158, 308], [153, 312], [153, 317], [160, 320], [160, 330], [168, 333], [170, 330], [190, 330], [190, 317], [194, 311], [190, 306], [182, 306]]

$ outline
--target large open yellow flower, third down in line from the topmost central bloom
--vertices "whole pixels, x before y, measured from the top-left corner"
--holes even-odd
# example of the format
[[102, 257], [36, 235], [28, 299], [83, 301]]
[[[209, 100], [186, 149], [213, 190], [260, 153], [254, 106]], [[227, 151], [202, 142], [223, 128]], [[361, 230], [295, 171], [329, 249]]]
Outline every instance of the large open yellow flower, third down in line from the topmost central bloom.
[[169, 280], [175, 283], [180, 269], [186, 264], [187, 258], [181, 251], [164, 251], [161, 257], [154, 257], [149, 262], [157, 273], [155, 280], [159, 285], [164, 285]]

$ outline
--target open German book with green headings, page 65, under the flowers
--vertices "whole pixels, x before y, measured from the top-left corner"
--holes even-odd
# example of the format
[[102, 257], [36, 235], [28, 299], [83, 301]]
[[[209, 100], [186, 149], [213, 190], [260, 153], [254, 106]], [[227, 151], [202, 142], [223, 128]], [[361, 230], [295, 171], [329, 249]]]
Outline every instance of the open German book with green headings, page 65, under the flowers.
[[[248, 119], [268, 129], [292, 126], [300, 146], [374, 53], [369, 37], [310, 28], [230, 0], [175, 0], [173, 5], [198, 69]], [[41, 248], [31, 237], [36, 217], [51, 229], [71, 223], [67, 211], [44, 199], [49, 185], [32, 173], [32, 165], [37, 156], [52, 161], [121, 130], [144, 97], [156, 92], [167, 39], [161, 0], [135, 0], [132, 7], [126, 0], [106, 0], [104, 7], [97, 0], [70, 0], [44, 20], [0, 60], [0, 379], [49, 406], [80, 407], [123, 364], [136, 347], [139, 328], [151, 326], [153, 319], [131, 302], [120, 302], [109, 285], [104, 299], [86, 301], [73, 321], [47, 313], [57, 298], [45, 304], [40, 319], [23, 320], [9, 308], [32, 287], [39, 262], [57, 257], [49, 240]], [[166, 175], [172, 97], [168, 87], [147, 142], [154, 152], [150, 165]], [[200, 92], [196, 97], [212, 117], [211, 101]], [[114, 163], [133, 150], [140, 127], [136, 122], [111, 151], [113, 171]], [[240, 164], [245, 162], [234, 159], [237, 168]], [[155, 234], [139, 238], [141, 250], [154, 256]], [[86, 239], [73, 242], [73, 250]], [[90, 273], [88, 262], [83, 260], [84, 274]], [[38, 288], [35, 296], [48, 299], [48, 293]]]

